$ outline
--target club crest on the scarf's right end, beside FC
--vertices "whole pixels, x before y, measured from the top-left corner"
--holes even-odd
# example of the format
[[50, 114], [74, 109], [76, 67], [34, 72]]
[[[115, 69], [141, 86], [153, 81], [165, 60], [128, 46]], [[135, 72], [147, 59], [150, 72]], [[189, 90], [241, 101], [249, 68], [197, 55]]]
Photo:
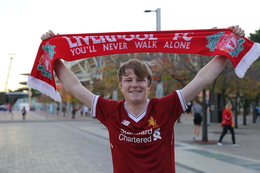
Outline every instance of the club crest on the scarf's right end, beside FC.
[[219, 32], [217, 34], [213, 34], [212, 36], [207, 36], [208, 45], [207, 48], [210, 51], [214, 51], [214, 49], [220, 49], [221, 51], [225, 51], [229, 53], [232, 57], [237, 57], [239, 52], [242, 51], [244, 39], [236, 37], [233, 33], [224, 34], [224, 32]]

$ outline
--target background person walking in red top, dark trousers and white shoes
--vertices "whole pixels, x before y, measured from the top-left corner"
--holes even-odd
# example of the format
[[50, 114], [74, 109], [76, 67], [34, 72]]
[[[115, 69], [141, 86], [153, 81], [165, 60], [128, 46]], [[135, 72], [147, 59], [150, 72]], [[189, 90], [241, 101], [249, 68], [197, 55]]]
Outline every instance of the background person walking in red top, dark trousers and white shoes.
[[226, 108], [222, 112], [222, 122], [221, 126], [223, 126], [223, 132], [219, 138], [219, 141], [217, 143], [218, 146], [222, 147], [222, 139], [227, 134], [227, 131], [229, 130], [232, 134], [232, 141], [233, 141], [233, 147], [239, 147], [239, 144], [236, 144], [235, 140], [235, 131], [234, 131], [234, 125], [233, 125], [233, 119], [232, 119], [232, 104], [227, 103]]

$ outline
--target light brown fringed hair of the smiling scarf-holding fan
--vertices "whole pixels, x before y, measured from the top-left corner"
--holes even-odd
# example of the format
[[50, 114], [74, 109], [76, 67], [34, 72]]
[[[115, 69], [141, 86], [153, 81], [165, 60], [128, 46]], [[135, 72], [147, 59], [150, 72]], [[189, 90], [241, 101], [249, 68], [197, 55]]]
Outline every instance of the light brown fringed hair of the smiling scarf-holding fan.
[[144, 62], [137, 60], [137, 59], [130, 59], [123, 63], [119, 69], [117, 70], [117, 77], [118, 77], [118, 83], [119, 87], [122, 87], [122, 76], [128, 76], [129, 75], [129, 69], [132, 69], [135, 73], [135, 75], [138, 78], [145, 78], [147, 77], [148, 80], [148, 87], [152, 84], [153, 74], [149, 66], [145, 64]]

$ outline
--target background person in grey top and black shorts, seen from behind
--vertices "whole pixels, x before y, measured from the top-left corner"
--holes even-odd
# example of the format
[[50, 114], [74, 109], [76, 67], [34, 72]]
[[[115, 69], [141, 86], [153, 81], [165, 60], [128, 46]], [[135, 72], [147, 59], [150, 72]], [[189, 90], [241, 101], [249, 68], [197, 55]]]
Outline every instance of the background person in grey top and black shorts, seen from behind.
[[198, 140], [200, 125], [202, 121], [202, 106], [193, 100], [192, 106], [192, 113], [193, 113], [193, 122], [194, 122], [194, 129], [192, 138]]

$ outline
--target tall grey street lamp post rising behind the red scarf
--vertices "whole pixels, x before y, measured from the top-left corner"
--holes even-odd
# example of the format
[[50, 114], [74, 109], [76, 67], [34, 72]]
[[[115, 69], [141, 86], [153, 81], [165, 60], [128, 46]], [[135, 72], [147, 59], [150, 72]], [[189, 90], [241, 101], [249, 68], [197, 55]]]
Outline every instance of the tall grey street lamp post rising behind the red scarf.
[[[151, 11], [153, 11], [153, 10], [145, 10], [144, 12], [149, 13]], [[161, 9], [157, 8], [155, 10], [155, 12], [156, 12], [156, 30], [160, 31], [161, 30]], [[161, 57], [162, 54], [160, 53], [159, 56]], [[160, 82], [157, 82], [157, 84], [156, 84], [156, 97], [157, 98], [163, 97], [163, 81], [162, 80], [160, 80]]]

